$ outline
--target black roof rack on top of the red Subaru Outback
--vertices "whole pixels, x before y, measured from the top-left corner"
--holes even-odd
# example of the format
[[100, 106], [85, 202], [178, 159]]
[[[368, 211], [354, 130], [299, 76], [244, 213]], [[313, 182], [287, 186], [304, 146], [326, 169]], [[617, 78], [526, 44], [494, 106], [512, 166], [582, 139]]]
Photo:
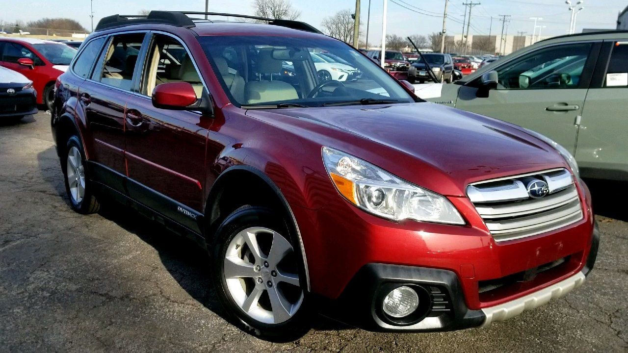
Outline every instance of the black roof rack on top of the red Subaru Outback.
[[100, 19], [96, 25], [95, 31], [106, 30], [108, 28], [116, 28], [121, 26], [127, 26], [129, 24], [143, 24], [143, 23], [160, 23], [160, 24], [172, 24], [173, 26], [180, 26], [186, 28], [195, 27], [196, 24], [187, 15], [207, 15], [207, 16], [223, 16], [223, 17], [236, 17], [256, 19], [257, 21], [267, 21], [268, 24], [274, 26], [281, 26], [286, 28], [293, 28], [294, 30], [308, 31], [312, 33], [320, 33], [310, 24], [301, 21], [292, 21], [290, 19], [273, 19], [259, 16], [249, 16], [247, 14], [232, 14], [232, 13], [206, 13], [199, 11], [151, 11], [148, 16], [146, 15], [119, 15], [114, 14]]

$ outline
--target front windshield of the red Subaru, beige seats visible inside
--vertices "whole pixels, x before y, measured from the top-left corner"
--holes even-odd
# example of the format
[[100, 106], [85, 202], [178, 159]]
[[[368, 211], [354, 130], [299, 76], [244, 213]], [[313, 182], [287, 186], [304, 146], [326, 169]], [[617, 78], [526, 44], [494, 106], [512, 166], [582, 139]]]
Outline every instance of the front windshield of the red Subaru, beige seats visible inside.
[[327, 38], [200, 36], [230, 100], [246, 107], [414, 102], [381, 67]]

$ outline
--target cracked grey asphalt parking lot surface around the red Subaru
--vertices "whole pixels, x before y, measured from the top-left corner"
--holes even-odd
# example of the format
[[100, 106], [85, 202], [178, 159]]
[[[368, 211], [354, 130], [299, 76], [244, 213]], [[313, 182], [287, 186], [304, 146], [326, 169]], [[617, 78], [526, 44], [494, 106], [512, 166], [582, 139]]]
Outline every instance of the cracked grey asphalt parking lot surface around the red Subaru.
[[[322, 317], [271, 344], [223, 318], [205, 254], [119, 206], [68, 207], [50, 117], [0, 126], [0, 351], [625, 352], [628, 210], [595, 183], [600, 253], [585, 285], [488, 329], [374, 334]], [[625, 193], [625, 192], [624, 192]], [[612, 195], [612, 197], [606, 196]]]

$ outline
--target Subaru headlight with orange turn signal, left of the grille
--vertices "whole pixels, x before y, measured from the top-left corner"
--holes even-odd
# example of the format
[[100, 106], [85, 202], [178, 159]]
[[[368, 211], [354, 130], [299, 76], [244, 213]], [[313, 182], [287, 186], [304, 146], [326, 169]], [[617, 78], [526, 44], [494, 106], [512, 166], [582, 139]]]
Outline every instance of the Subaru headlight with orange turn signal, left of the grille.
[[323, 162], [338, 192], [371, 214], [392, 220], [465, 224], [447, 198], [371, 163], [328, 147], [323, 147]]

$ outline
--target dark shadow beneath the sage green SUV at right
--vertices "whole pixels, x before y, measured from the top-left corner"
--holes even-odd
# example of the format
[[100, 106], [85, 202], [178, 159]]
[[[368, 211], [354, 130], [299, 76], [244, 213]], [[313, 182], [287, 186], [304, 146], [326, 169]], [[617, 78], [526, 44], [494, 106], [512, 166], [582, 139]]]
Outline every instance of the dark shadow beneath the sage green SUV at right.
[[628, 197], [628, 183], [614, 180], [586, 179], [591, 190], [593, 213], [628, 222], [628, 212], [620, 206], [620, 200]]

